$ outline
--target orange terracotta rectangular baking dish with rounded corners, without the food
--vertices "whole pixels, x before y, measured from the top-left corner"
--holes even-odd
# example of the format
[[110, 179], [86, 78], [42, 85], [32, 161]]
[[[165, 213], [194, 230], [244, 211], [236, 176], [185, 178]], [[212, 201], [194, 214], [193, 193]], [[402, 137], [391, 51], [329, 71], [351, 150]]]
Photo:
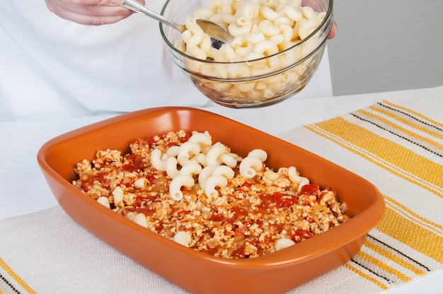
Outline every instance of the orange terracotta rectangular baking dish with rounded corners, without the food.
[[[128, 152], [134, 139], [168, 131], [209, 131], [239, 155], [262, 148], [267, 165], [294, 165], [347, 204], [346, 223], [297, 245], [255, 259], [222, 259], [167, 240], [98, 204], [71, 185], [77, 162], [98, 149]], [[38, 163], [60, 206], [91, 233], [191, 293], [283, 293], [350, 260], [384, 213], [380, 192], [328, 160], [226, 117], [185, 107], [123, 114], [70, 131], [38, 152]]]

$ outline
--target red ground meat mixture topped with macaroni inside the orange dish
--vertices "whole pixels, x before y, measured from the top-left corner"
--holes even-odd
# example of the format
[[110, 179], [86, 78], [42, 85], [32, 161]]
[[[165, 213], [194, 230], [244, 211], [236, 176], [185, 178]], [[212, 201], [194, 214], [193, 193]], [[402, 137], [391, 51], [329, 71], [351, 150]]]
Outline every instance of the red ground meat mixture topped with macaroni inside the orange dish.
[[74, 186], [148, 230], [215, 257], [271, 254], [349, 219], [328, 187], [309, 183], [295, 167], [270, 169], [260, 149], [241, 158], [212, 144], [207, 132], [137, 139], [130, 150], [102, 150], [77, 163]]

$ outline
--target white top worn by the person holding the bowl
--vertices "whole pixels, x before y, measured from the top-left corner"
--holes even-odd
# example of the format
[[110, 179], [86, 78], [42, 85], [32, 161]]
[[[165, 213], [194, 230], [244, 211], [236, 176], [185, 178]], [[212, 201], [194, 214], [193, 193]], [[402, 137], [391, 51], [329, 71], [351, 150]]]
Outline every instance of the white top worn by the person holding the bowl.
[[[146, 1], [161, 11], [163, 1]], [[325, 61], [326, 59], [326, 61]], [[327, 52], [297, 96], [332, 95]], [[79, 25], [43, 0], [0, 1], [0, 121], [214, 105], [166, 54], [156, 20]]]

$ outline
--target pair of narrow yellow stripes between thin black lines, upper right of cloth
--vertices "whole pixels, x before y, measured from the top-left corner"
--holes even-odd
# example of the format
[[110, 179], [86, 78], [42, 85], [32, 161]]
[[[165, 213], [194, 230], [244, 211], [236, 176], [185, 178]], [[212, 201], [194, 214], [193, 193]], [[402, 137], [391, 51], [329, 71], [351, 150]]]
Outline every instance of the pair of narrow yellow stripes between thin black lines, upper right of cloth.
[[[397, 115], [393, 114], [392, 112], [386, 111], [386, 110], [381, 110], [380, 108], [371, 106], [369, 107], [369, 109], [374, 110], [376, 112], [380, 112], [382, 114], [386, 114], [387, 116], [396, 119], [398, 122], [402, 122], [403, 124], [408, 125], [409, 127], [413, 127], [414, 129], [418, 129], [426, 134], [430, 134], [431, 136], [434, 136], [435, 138], [439, 138], [439, 139], [443, 139], [443, 136], [441, 136], [440, 134], [437, 134], [435, 131], [431, 131], [430, 129], [421, 127], [417, 124], [413, 124], [412, 122], [408, 121], [407, 119], [403, 119], [403, 117], [398, 117]], [[380, 122], [383, 122], [384, 124], [388, 125], [389, 127], [392, 127], [393, 129], [397, 129], [398, 131], [401, 131], [404, 134], [408, 134], [409, 136], [418, 139], [420, 141], [423, 141], [425, 143], [430, 144], [431, 146], [434, 146], [435, 148], [439, 148], [440, 150], [443, 151], [443, 145], [439, 144], [435, 141], [432, 141], [429, 138], [426, 138], [425, 136], [420, 136], [417, 133], [410, 131], [408, 129], [405, 129], [403, 127], [400, 127], [398, 124], [394, 124], [393, 122], [389, 122], [388, 119], [384, 119], [383, 117], [380, 117], [376, 114], [373, 114], [371, 112], [367, 112], [366, 110], [359, 110], [359, 113], [362, 113], [364, 115], [366, 115], [367, 117], [372, 117], [374, 119], [379, 120]]]

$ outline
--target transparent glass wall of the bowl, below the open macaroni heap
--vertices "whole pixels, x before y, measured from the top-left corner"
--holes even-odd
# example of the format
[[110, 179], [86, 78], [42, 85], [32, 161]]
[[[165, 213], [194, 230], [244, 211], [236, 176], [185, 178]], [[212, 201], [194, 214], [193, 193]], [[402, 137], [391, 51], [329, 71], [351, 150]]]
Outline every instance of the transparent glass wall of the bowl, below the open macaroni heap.
[[[161, 14], [185, 23], [197, 8], [207, 7], [209, 1], [167, 0]], [[181, 40], [178, 30], [160, 24], [160, 32], [171, 59], [207, 98], [226, 107], [263, 107], [299, 93], [311, 80], [323, 56], [333, 26], [333, 0], [303, 0], [302, 6], [323, 13], [318, 27], [287, 49], [248, 61], [197, 59], [176, 46]]]

